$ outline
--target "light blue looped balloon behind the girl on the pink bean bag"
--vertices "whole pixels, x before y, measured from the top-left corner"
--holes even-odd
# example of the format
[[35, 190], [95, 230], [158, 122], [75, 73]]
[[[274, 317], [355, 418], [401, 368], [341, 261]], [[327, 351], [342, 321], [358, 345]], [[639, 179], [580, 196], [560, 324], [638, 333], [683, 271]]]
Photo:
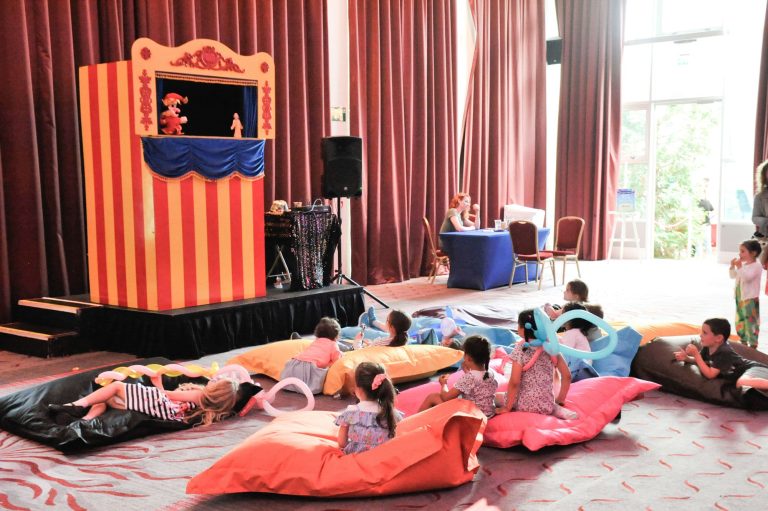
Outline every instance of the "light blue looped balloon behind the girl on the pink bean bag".
[[[525, 327], [529, 330], [533, 330], [536, 335], [536, 340], [528, 341], [528, 345], [534, 347], [543, 346], [544, 351], [550, 355], [562, 353], [563, 355], [568, 355], [569, 357], [574, 358], [598, 360], [613, 353], [613, 350], [616, 349], [616, 345], [619, 342], [615, 328], [609, 325], [603, 318], [595, 316], [591, 312], [585, 310], [571, 310], [561, 314], [559, 318], [552, 321], [543, 310], [534, 309], [533, 317], [536, 321], [536, 328], [533, 328], [533, 325], [530, 323], [526, 323]], [[608, 343], [597, 351], [577, 350], [570, 346], [563, 346], [560, 344], [560, 339], [557, 337], [557, 331], [561, 326], [575, 318], [586, 319], [605, 331], [608, 334]]]

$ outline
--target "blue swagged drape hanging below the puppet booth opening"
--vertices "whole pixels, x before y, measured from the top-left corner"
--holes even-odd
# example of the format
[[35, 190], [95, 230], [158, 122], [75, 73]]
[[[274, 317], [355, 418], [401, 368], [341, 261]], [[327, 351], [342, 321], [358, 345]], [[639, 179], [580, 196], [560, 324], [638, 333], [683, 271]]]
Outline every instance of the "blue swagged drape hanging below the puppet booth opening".
[[144, 161], [167, 178], [197, 172], [220, 179], [233, 172], [247, 178], [264, 174], [264, 140], [188, 137], [142, 137]]

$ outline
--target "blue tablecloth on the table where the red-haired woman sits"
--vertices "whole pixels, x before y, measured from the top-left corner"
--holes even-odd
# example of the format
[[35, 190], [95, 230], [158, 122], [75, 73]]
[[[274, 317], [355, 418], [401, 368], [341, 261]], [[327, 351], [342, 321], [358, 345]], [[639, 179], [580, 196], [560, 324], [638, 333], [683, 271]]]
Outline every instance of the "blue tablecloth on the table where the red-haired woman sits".
[[[548, 228], [539, 229], [539, 250], [544, 249], [548, 237]], [[485, 290], [509, 285], [513, 254], [507, 231], [445, 232], [440, 240], [451, 258], [448, 287]], [[536, 278], [536, 263], [528, 263], [528, 278]], [[513, 282], [525, 282], [525, 268], [515, 271]]]

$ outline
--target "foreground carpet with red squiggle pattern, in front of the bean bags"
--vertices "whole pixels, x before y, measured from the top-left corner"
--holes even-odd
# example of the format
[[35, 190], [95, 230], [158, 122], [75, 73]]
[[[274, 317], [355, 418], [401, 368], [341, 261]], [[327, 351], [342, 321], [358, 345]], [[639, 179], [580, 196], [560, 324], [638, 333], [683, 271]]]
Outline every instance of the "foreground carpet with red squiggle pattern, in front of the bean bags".
[[[346, 404], [321, 397], [318, 409]], [[626, 404], [618, 424], [583, 444], [534, 453], [481, 448], [481, 471], [459, 488], [351, 500], [184, 493], [190, 477], [267, 421], [257, 412], [77, 455], [0, 431], [0, 508], [449, 510], [485, 497], [502, 510], [755, 510], [768, 499], [768, 416], [662, 392]]]

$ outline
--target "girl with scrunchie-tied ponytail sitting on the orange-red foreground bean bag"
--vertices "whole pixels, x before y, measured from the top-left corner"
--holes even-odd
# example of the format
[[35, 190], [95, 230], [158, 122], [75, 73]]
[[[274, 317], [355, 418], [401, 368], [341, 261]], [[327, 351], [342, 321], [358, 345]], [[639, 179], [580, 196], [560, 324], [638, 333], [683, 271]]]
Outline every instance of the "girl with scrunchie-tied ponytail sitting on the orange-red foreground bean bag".
[[395, 409], [395, 387], [381, 364], [361, 362], [357, 366], [355, 395], [360, 402], [336, 419], [344, 454], [364, 452], [393, 438], [403, 418]]

